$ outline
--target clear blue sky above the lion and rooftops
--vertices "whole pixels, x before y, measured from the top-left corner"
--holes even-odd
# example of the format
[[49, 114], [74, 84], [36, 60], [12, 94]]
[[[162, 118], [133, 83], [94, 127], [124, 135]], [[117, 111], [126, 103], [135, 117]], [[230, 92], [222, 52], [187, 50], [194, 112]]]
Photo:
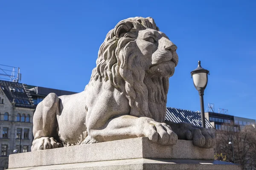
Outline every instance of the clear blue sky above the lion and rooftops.
[[20, 67], [22, 83], [83, 91], [108, 31], [136, 16], [153, 17], [178, 47], [167, 106], [200, 110], [190, 72], [201, 60], [205, 108], [256, 119], [255, 0], [2, 0], [0, 64]]

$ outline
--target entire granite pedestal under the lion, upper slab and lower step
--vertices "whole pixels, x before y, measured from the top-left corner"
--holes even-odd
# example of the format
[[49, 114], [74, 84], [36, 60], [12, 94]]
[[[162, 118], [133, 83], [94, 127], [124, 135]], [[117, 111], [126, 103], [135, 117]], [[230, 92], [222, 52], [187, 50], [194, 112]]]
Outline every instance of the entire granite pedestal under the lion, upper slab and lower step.
[[84, 144], [9, 156], [11, 170], [240, 170], [240, 166], [213, 160], [213, 149], [179, 140], [162, 146], [148, 138]]

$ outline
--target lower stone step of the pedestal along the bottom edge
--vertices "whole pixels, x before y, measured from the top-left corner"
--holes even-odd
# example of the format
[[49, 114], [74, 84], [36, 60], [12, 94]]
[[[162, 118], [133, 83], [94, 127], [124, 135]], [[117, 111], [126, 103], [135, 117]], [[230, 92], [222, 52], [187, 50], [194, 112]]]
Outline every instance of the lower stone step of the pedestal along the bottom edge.
[[112, 161], [58, 164], [9, 170], [241, 170], [237, 164], [215, 160], [123, 159]]

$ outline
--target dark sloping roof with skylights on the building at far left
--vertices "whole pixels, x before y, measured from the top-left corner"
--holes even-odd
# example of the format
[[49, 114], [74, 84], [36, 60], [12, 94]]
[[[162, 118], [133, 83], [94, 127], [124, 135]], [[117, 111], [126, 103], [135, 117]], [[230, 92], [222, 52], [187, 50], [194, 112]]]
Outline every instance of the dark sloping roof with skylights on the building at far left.
[[22, 83], [0, 80], [0, 88], [11, 103], [15, 101], [16, 107], [35, 108]]

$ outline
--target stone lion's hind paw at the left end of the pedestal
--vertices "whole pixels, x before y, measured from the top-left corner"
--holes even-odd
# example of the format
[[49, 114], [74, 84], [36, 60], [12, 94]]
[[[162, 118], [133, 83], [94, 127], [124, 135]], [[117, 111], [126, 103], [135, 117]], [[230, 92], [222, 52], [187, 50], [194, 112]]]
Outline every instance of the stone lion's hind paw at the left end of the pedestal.
[[62, 145], [52, 137], [51, 138], [41, 137], [33, 141], [31, 150], [32, 151], [46, 150], [46, 149], [52, 149], [52, 148], [58, 148], [58, 147], [62, 147]]

